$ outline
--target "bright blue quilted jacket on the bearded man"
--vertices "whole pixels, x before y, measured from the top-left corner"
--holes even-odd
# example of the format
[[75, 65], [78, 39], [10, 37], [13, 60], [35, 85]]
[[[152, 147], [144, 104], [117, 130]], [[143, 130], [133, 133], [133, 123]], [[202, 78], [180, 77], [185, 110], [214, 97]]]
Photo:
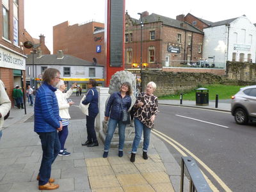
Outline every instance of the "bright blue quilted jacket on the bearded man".
[[60, 127], [61, 117], [55, 91], [56, 88], [44, 83], [36, 92], [35, 132], [53, 132]]

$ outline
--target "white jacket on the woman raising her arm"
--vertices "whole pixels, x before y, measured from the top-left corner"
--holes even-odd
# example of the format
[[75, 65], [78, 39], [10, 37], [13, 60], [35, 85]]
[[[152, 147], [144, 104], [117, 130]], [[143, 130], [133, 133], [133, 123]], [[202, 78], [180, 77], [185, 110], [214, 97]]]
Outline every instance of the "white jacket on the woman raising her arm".
[[70, 115], [68, 113], [68, 108], [70, 107], [70, 105], [67, 102], [67, 98], [70, 97], [72, 93], [73, 93], [73, 90], [71, 88], [67, 91], [67, 93], [62, 93], [61, 90], [58, 90], [58, 89], [55, 92], [58, 100], [61, 118], [70, 118]]

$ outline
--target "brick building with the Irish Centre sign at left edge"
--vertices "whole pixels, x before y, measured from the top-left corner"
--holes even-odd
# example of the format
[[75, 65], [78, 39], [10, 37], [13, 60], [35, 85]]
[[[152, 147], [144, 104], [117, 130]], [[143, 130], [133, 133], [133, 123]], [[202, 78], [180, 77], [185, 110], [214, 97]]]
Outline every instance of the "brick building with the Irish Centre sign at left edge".
[[0, 79], [12, 100], [15, 85], [25, 84], [26, 56], [24, 42], [24, 1], [2, 0], [0, 11]]

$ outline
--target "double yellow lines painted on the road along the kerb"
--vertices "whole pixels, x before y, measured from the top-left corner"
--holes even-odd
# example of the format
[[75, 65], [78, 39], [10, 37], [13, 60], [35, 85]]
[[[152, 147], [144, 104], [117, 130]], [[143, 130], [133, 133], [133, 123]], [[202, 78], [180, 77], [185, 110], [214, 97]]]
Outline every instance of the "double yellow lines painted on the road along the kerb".
[[[216, 173], [214, 173], [211, 168], [209, 168], [209, 166], [207, 166], [203, 161], [201, 161], [198, 157], [196, 157], [191, 151], [188, 150], [188, 148], [184, 147], [183, 145], [181, 145], [180, 143], [178, 143], [177, 141], [173, 140], [172, 138], [170, 138], [169, 136], [166, 136], [166, 134], [163, 134], [160, 131], [157, 131], [156, 129], [152, 130], [152, 133], [155, 134], [156, 136], [158, 136], [159, 138], [163, 139], [164, 141], [166, 141], [167, 143], [169, 143], [170, 145], [172, 145], [172, 147], [174, 147], [182, 156], [191, 156], [193, 157], [199, 164], [201, 164], [202, 167], [205, 168], [205, 170], [207, 170], [207, 172], [212, 175], [212, 177], [220, 184], [221, 188], [223, 188], [225, 191], [232, 191], [230, 188], [228, 188], [228, 186], [223, 182], [223, 180], [220, 179], [220, 177], [218, 177], [218, 175], [216, 175]], [[185, 153], [186, 152], [186, 153]], [[202, 170], [201, 170], [202, 172]], [[214, 184], [212, 184], [211, 180], [208, 179], [208, 177], [202, 172], [202, 174], [204, 175], [205, 179], [207, 180], [210, 188], [212, 189], [212, 191], [219, 191]]]

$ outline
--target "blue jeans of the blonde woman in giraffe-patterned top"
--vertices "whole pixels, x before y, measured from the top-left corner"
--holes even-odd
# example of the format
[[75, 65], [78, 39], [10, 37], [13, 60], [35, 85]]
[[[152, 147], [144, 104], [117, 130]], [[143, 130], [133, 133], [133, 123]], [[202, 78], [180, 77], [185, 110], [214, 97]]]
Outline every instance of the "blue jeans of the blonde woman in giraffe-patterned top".
[[140, 144], [140, 139], [143, 131], [143, 151], [147, 152], [148, 145], [150, 141], [150, 131], [151, 129], [144, 125], [138, 118], [134, 118], [134, 126], [135, 126], [135, 137], [132, 143], [132, 153], [136, 154], [137, 148]]

